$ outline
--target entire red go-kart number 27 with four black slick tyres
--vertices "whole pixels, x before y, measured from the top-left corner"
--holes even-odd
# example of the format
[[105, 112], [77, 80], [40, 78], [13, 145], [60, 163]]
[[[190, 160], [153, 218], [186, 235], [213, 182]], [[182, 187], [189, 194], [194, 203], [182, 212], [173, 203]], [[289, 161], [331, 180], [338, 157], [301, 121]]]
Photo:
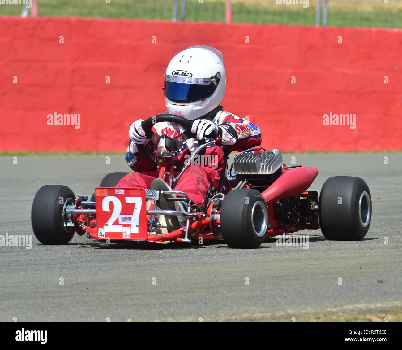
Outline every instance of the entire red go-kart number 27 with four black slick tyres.
[[[156, 122], [174, 122], [184, 128], [176, 137], [157, 135]], [[371, 221], [371, 195], [366, 182], [357, 177], [334, 176], [322, 186], [320, 197], [306, 191], [318, 174], [316, 168], [286, 166], [279, 150], [252, 147], [238, 153], [228, 170], [229, 149], [223, 147], [226, 169], [220, 186], [201, 208], [174, 185], [205, 148], [220, 144], [220, 137], [199, 141], [180, 170], [175, 156], [180, 145], [195, 135], [192, 122], [171, 114], [142, 122], [148, 139], [156, 144], [152, 155], [138, 145], [140, 155], [154, 166], [172, 191], [120, 188], [117, 182], [128, 173], [105, 176], [93, 195], [75, 196], [62, 185], [42, 186], [32, 205], [33, 232], [43, 244], [66, 244], [76, 232], [103, 242], [192, 242], [224, 240], [232, 248], [256, 248], [266, 237], [321, 228], [328, 240], [361, 240]], [[156, 202], [181, 201], [183, 210], [162, 210]], [[166, 216], [185, 218], [185, 225], [166, 230]]]

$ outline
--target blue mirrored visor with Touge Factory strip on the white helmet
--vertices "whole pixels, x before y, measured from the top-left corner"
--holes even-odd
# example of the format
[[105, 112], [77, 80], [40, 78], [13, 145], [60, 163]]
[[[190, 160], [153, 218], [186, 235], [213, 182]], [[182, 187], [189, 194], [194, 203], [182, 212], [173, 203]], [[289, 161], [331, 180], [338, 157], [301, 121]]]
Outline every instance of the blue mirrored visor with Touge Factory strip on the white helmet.
[[187, 103], [210, 97], [217, 87], [212, 78], [175, 77], [165, 74], [165, 97], [174, 102]]

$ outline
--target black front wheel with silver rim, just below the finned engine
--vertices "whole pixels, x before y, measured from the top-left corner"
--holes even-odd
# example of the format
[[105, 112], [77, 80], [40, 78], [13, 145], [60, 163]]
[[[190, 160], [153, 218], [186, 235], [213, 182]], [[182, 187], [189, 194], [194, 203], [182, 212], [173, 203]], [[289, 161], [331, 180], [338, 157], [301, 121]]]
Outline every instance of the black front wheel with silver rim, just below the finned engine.
[[257, 248], [267, 236], [267, 203], [254, 189], [230, 191], [223, 200], [220, 219], [222, 236], [231, 248]]

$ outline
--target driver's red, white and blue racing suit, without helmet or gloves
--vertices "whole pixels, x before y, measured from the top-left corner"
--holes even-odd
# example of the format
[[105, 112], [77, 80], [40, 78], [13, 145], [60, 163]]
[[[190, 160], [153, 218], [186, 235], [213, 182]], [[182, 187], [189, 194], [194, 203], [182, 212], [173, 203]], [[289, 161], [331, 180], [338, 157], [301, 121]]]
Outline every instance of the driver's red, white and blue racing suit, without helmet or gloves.
[[[224, 111], [222, 106], [211, 112], [205, 119], [209, 119], [216, 125], [221, 125], [224, 128], [222, 145], [207, 147], [205, 155], [194, 159], [193, 164], [185, 170], [174, 186], [174, 190], [187, 193], [193, 204], [197, 207], [202, 205], [208, 191], [213, 192], [215, 189], [218, 189], [220, 175], [225, 168], [222, 146], [241, 152], [261, 144], [261, 130], [258, 126], [246, 119]], [[158, 135], [176, 137], [184, 129], [176, 123], [160, 122], [156, 123], [152, 130]], [[236, 142], [232, 144], [234, 141]], [[177, 159], [185, 164], [196, 148], [197, 139], [186, 140], [183, 142], [182, 148], [176, 156]], [[146, 149], [152, 154], [156, 150], [156, 145], [153, 141], [149, 141]], [[150, 188], [152, 180], [158, 177], [157, 172], [150, 171], [152, 170], [152, 166], [138, 152], [131, 153], [130, 147], [127, 149], [125, 159], [134, 172], [124, 176], [116, 186]]]

